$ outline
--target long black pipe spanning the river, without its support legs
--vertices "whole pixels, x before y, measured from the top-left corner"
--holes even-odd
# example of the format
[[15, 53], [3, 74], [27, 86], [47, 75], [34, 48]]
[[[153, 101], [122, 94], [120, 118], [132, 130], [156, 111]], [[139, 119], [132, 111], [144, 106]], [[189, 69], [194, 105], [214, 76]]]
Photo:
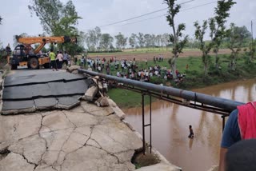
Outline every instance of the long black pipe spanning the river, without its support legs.
[[236, 109], [236, 107], [238, 105], [244, 104], [239, 101], [232, 101], [232, 100], [228, 100], [228, 99], [221, 98], [221, 97], [213, 97], [210, 95], [206, 95], [204, 93], [196, 93], [193, 91], [188, 91], [188, 90], [184, 90], [184, 89], [176, 89], [173, 87], [168, 87], [168, 86], [163, 86], [163, 85], [154, 85], [151, 83], [139, 82], [139, 81], [130, 80], [127, 78], [118, 78], [118, 77], [114, 77], [111, 75], [100, 74], [100, 73], [90, 71], [90, 70], [78, 69], [78, 72], [82, 73], [82, 74], [89, 74], [91, 76], [98, 76], [99, 78], [105, 78], [106, 80], [112, 80], [114, 82], [123, 83], [126, 85], [136, 86], [138, 88], [150, 90], [150, 91], [157, 92], [157, 93], [163, 93], [163, 94], [170, 95], [173, 97], [180, 97], [180, 98], [186, 99], [188, 101], [200, 102], [202, 104], [211, 105], [214, 107], [218, 107], [220, 109], [226, 109], [230, 112], [232, 110]]

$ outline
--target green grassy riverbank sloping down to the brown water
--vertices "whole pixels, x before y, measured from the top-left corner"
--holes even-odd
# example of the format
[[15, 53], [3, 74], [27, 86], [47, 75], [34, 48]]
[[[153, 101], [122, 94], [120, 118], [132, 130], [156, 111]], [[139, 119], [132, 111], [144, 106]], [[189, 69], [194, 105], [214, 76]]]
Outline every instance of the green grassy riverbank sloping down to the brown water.
[[[202, 58], [178, 58], [177, 68], [180, 73], [186, 74], [186, 78], [183, 78], [181, 83], [177, 85], [174, 81], [166, 81], [163, 78], [153, 78], [150, 82], [190, 90], [256, 77], [256, 72], [254, 71], [256, 64], [254, 62], [248, 62], [248, 57], [245, 54], [241, 54], [241, 57], [236, 61], [236, 70], [230, 70], [228, 61], [228, 55], [221, 55], [219, 62], [219, 66], [221, 66], [220, 70], [216, 70], [212, 64], [208, 76], [204, 77]], [[157, 62], [157, 64], [154, 64], [153, 61], [149, 61], [147, 65], [146, 62], [138, 62], [139, 69], [145, 69], [148, 66], [154, 65], [159, 65], [166, 69], [170, 67], [167, 59], [163, 62]], [[188, 65], [188, 67], [186, 67], [186, 65]], [[115, 73], [112, 74], [115, 75]], [[142, 101], [140, 93], [134, 93], [126, 89], [110, 89], [108, 95], [111, 99], [116, 101], [118, 106], [122, 109], [140, 106]], [[158, 99], [154, 98], [152, 100], [157, 101]], [[146, 104], [149, 104], [149, 98], [146, 98]]]

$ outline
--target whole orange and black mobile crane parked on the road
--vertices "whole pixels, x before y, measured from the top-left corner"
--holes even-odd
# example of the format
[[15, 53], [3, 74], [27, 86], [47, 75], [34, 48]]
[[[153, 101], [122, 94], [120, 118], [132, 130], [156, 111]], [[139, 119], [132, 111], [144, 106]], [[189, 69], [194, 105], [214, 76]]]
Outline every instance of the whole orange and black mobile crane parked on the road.
[[[30, 69], [41, 69], [50, 67], [50, 58], [47, 54], [42, 54], [41, 50], [46, 43], [77, 43], [77, 38], [68, 36], [60, 37], [29, 37], [22, 38], [16, 36], [18, 46], [14, 48], [13, 55], [8, 58], [11, 70], [16, 70], [18, 66], [27, 66]], [[40, 44], [33, 50], [33, 44]]]

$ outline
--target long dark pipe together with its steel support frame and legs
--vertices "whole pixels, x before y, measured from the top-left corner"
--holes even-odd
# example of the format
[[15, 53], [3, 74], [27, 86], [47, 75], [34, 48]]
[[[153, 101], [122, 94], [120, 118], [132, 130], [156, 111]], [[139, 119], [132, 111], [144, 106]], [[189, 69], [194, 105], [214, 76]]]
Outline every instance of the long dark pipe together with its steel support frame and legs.
[[[147, 82], [139, 82], [130, 80], [127, 78], [118, 78], [106, 74], [99, 74], [89, 70], [78, 69], [81, 74], [86, 74], [89, 77], [97, 76], [98, 82], [105, 80], [106, 82], [117, 82], [118, 87], [122, 89], [130, 89], [137, 93], [142, 93], [142, 141], [143, 141], [143, 152], [146, 151], [146, 139], [145, 139], [145, 128], [150, 126], [150, 151], [152, 148], [152, 109], [151, 109], [151, 97], [157, 97], [164, 101], [170, 101], [178, 105], [183, 105], [193, 109], [200, 109], [210, 113], [216, 113], [222, 115], [222, 129], [225, 127], [225, 117], [237, 108], [238, 105], [244, 103], [238, 101], [232, 101], [221, 97], [213, 97], [203, 93], [196, 93], [184, 89], [176, 89], [164, 85], [154, 85]], [[120, 84], [121, 83], [121, 84]], [[144, 112], [144, 97], [150, 96], [150, 123], [145, 123], [145, 112]]]

